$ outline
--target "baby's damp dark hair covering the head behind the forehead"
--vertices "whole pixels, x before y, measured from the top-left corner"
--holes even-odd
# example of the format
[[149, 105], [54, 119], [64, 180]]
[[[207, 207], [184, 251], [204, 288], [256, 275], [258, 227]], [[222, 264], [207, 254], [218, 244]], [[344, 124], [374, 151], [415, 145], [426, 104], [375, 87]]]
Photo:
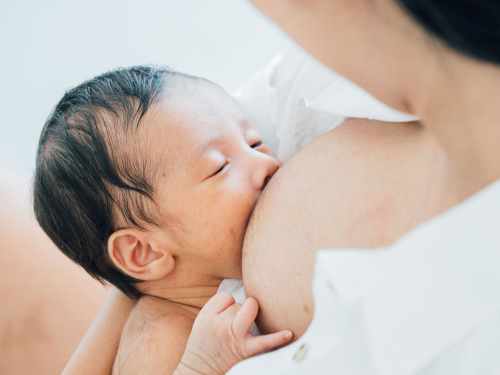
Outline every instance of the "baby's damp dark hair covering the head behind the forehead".
[[[157, 223], [150, 165], [126, 149], [166, 78], [184, 75], [134, 66], [101, 74], [67, 91], [41, 131], [33, 208], [57, 247], [99, 281], [140, 296], [137, 280], [115, 267], [107, 240], [118, 219]], [[120, 141], [121, 139], [121, 141]], [[133, 142], [132, 142], [133, 143]], [[133, 147], [132, 147], [133, 148]]]

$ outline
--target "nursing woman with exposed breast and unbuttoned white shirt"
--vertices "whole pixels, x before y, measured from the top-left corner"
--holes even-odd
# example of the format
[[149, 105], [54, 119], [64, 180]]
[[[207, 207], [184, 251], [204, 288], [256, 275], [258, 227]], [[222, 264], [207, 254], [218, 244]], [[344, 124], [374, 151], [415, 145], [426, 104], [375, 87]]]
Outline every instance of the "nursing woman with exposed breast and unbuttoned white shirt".
[[[494, 23], [498, 18], [498, 5], [493, 1], [472, 0], [462, 1], [453, 9], [446, 8], [445, 1], [420, 1], [418, 5], [395, 0], [262, 0], [254, 3], [322, 62], [387, 104], [422, 118], [420, 123], [409, 125], [348, 122], [298, 153], [280, 169], [262, 194], [245, 237], [246, 292], [259, 301], [261, 327], [273, 330], [284, 326], [299, 335], [312, 316], [308, 281], [312, 277], [317, 248], [388, 245], [413, 226], [462, 202], [500, 177], [500, 159], [496, 155], [496, 144], [500, 140], [500, 128], [496, 123], [500, 117], [496, 105], [500, 94], [500, 69], [494, 64], [500, 60], [495, 47], [500, 33]], [[467, 22], [462, 22], [463, 19]], [[484, 30], [488, 22], [492, 25]], [[489, 30], [491, 32], [487, 33]], [[422, 154], [426, 156], [421, 157]], [[317, 187], [319, 181], [322, 187]], [[496, 208], [498, 199], [491, 199], [491, 196], [498, 189], [496, 183], [486, 191], [489, 194], [486, 201], [496, 204]], [[480, 198], [482, 196], [484, 194]], [[478, 199], [473, 200], [475, 205], [477, 202]], [[466, 203], [467, 209], [473, 211], [470, 206], [474, 204]], [[451, 214], [463, 212], [463, 205], [458, 208]], [[490, 213], [491, 217], [496, 208]], [[481, 220], [490, 218], [483, 216], [481, 210], [473, 212], [479, 215], [473, 219], [480, 227], [487, 227], [487, 222]], [[430, 253], [421, 252], [430, 254], [429, 257], [438, 256], [434, 269], [425, 268], [433, 264], [429, 260], [434, 259], [422, 260], [418, 251], [416, 255], [411, 253], [415, 255], [415, 267], [427, 272], [425, 277], [416, 280], [410, 277], [413, 274], [405, 272], [395, 277], [397, 269], [411, 270], [411, 258], [405, 258], [403, 251], [389, 248], [388, 256], [378, 256], [375, 252], [376, 259], [383, 260], [381, 263], [371, 261], [370, 255], [362, 251], [352, 251], [355, 253], [352, 256], [342, 253], [334, 260], [345, 266], [347, 272], [335, 268], [335, 262], [330, 262], [328, 256], [323, 257], [322, 252], [319, 260], [324, 259], [328, 267], [321, 267], [319, 261], [316, 264], [318, 277], [323, 275], [323, 279], [330, 282], [337, 274], [343, 272], [343, 275], [337, 277], [341, 287], [336, 296], [327, 299], [324, 294], [324, 300], [318, 299], [318, 302], [324, 304], [326, 301], [328, 308], [335, 307], [338, 321], [352, 330], [343, 332], [342, 337], [339, 327], [331, 323], [324, 327], [325, 332], [329, 332], [326, 328], [332, 328], [333, 332], [337, 329], [337, 336], [328, 334], [321, 338], [321, 332], [317, 332], [313, 323], [309, 329], [312, 333], [308, 331], [296, 344], [242, 362], [234, 371], [286, 373], [299, 368], [300, 373], [335, 370], [339, 373], [354, 373], [354, 370], [358, 373], [418, 373], [425, 368], [428, 373], [458, 373], [458, 370], [484, 373], [481, 371], [498, 365], [493, 362], [498, 360], [495, 359], [498, 355], [493, 355], [497, 346], [492, 340], [498, 337], [495, 329], [498, 329], [499, 294], [479, 287], [497, 287], [500, 281], [488, 272], [476, 272], [473, 277], [459, 272], [469, 270], [469, 260], [484, 269], [498, 265], [498, 255], [490, 251], [471, 256], [478, 250], [474, 241], [480, 238], [476, 238], [474, 232], [446, 232], [445, 229], [453, 225], [442, 226], [442, 217], [404, 236], [393, 249], [417, 243], [422, 230], [425, 232], [427, 228], [433, 233], [433, 241], [426, 244], [430, 249], [435, 243], [449, 246], [447, 239], [459, 239], [466, 234], [463, 241], [454, 243], [460, 254], [469, 256], [464, 258], [466, 261], [461, 268], [446, 262], [446, 256], [439, 257], [437, 250], [440, 248]], [[486, 242], [480, 248], [498, 245], [494, 243], [497, 238], [492, 235], [491, 228], [484, 234]], [[394, 253], [401, 253], [403, 257], [397, 258]], [[349, 273], [354, 274], [350, 280]], [[369, 281], [363, 279], [363, 274], [370, 276]], [[394, 276], [388, 280], [395, 285], [387, 284], [386, 274]], [[446, 288], [449, 284], [440, 283], [436, 276], [439, 274], [444, 279], [452, 274], [451, 281], [466, 279], [470, 286], [461, 283], [455, 288]], [[427, 283], [427, 276], [434, 283]], [[460, 276], [465, 278], [460, 279]], [[363, 281], [363, 287], [352, 286], [356, 277]], [[364, 287], [370, 281], [385, 286], [386, 290], [393, 289], [397, 303], [387, 300], [382, 303], [387, 295], [380, 293], [380, 289], [367, 293]], [[479, 281], [483, 283], [476, 285]], [[412, 294], [405, 295], [404, 288], [398, 288], [397, 283], [411, 286]], [[334, 282], [329, 285], [334, 289]], [[319, 291], [324, 292], [327, 288], [323, 289]], [[440, 294], [436, 294], [436, 290]], [[372, 295], [379, 299], [370, 300]], [[434, 299], [425, 299], [427, 295]], [[467, 299], [471, 295], [478, 296], [473, 303]], [[445, 307], [449, 306], [441, 303], [446, 298], [453, 302], [449, 306], [461, 310], [470, 304], [486, 302], [488, 308], [479, 312], [471, 310], [474, 319], [454, 319], [461, 311], [448, 314]], [[435, 302], [436, 308], [443, 307], [446, 314], [432, 311], [428, 306], [421, 306], [423, 315], [418, 313], [420, 306], [414, 310], [398, 310], [400, 306], [411, 307], [407, 301], [412, 299]], [[354, 303], [359, 301], [361, 304]], [[375, 303], [377, 301], [380, 303]], [[368, 306], [366, 310], [354, 308], [363, 306], [363, 302]], [[383, 308], [376, 310], [373, 306]], [[402, 311], [402, 314], [384, 320], [384, 315], [393, 317], [388, 314], [391, 310]], [[320, 311], [323, 310], [318, 311], [316, 314], [321, 319]], [[368, 320], [360, 319], [356, 313]], [[487, 320], [491, 316], [493, 320]], [[411, 320], [413, 318], [416, 320]], [[418, 325], [419, 318], [422, 325]], [[426, 330], [429, 326], [426, 323], [430, 321], [425, 320], [427, 318], [433, 318], [430, 326], [434, 331]], [[463, 321], [467, 323], [465, 330], [462, 329]], [[366, 323], [366, 327], [360, 322]], [[378, 322], [385, 325], [377, 325]], [[380, 332], [380, 326], [386, 329]], [[434, 345], [434, 333], [442, 326], [447, 331], [438, 332], [438, 344]], [[406, 330], [408, 327], [420, 327], [420, 332], [424, 333], [411, 336], [420, 340], [415, 346], [393, 339], [404, 339], [397, 336], [398, 330], [415, 333], [416, 329]], [[484, 332], [489, 332], [489, 336], [481, 336]], [[384, 334], [389, 339], [383, 341]], [[379, 345], [370, 347], [372, 338], [377, 339]], [[338, 342], [318, 354], [316, 349], [324, 348], [331, 344], [330, 341]], [[474, 349], [477, 342], [480, 345]], [[402, 348], [399, 352], [394, 351], [397, 346]], [[394, 352], [398, 355], [389, 355]], [[305, 359], [301, 367], [293, 367], [292, 354], [295, 360], [306, 354], [309, 361]], [[286, 364], [285, 360], [291, 364]]]

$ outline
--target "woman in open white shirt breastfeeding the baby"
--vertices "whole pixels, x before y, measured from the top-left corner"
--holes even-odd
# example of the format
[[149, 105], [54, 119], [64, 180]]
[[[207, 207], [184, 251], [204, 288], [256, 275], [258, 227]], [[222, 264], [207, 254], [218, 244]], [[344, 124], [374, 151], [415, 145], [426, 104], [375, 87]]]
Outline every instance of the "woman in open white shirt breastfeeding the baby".
[[[364, 332], [358, 332], [364, 338], [350, 350], [340, 349], [345, 348], [348, 340], [342, 341], [339, 337], [336, 337], [340, 342], [338, 347], [330, 348], [326, 356], [321, 357], [311, 348], [309, 363], [304, 364], [301, 371], [318, 373], [328, 369], [353, 373], [360, 367], [362, 373], [399, 374], [420, 373], [417, 371], [422, 368], [425, 369], [421, 373], [498, 370], [495, 348], [500, 335], [500, 279], [496, 270], [500, 265], [500, 243], [495, 235], [496, 225], [491, 226], [491, 222], [498, 222], [500, 190], [498, 182], [492, 183], [500, 177], [497, 154], [500, 54], [496, 47], [500, 41], [500, 5], [495, 1], [459, 1], [450, 7], [446, 1], [438, 0], [253, 2], [323, 63], [385, 103], [421, 117], [414, 132], [399, 140], [387, 129], [385, 136], [373, 135], [376, 130], [370, 124], [358, 122], [354, 125], [357, 129], [352, 125], [348, 129], [349, 124], [345, 124], [345, 132], [352, 132], [347, 142], [350, 140], [353, 145], [365, 142], [371, 147], [367, 152], [364, 150], [365, 167], [370, 165], [366, 158], [380, 156], [373, 148], [391, 149], [390, 144], [380, 145], [380, 142], [411, 142], [410, 139], [419, 136], [435, 142], [437, 148], [435, 158], [427, 166], [428, 174], [419, 174], [418, 169], [414, 169], [422, 163], [416, 167], [408, 164], [399, 171], [409, 171], [414, 178], [428, 178], [420, 185], [421, 195], [408, 188], [404, 184], [407, 179], [403, 177], [403, 185], [394, 189], [412, 197], [413, 205], [411, 202], [409, 206], [401, 205], [395, 212], [375, 211], [380, 215], [371, 217], [379, 220], [401, 211], [406, 214], [394, 215], [394, 222], [382, 220], [367, 227], [360, 225], [365, 223], [365, 218], [361, 214], [356, 219], [356, 212], [359, 207], [361, 210], [369, 207], [368, 201], [362, 201], [360, 206], [349, 201], [354, 218], [339, 219], [338, 211], [333, 210], [335, 206], [325, 200], [328, 192], [345, 196], [342, 192], [345, 193], [346, 184], [359, 186], [351, 183], [353, 177], [348, 170], [338, 170], [343, 179], [336, 180], [321, 173], [321, 169], [327, 170], [326, 166], [314, 171], [315, 163], [342, 155], [328, 145], [344, 135], [332, 131], [304, 149], [293, 164], [284, 165], [257, 204], [253, 217], [258, 220], [250, 222], [243, 249], [245, 291], [259, 301], [260, 326], [270, 331], [286, 327], [303, 332], [311, 317], [306, 281], [311, 278], [314, 248], [332, 247], [331, 243], [336, 244], [334, 247], [353, 247], [356, 243], [352, 239], [357, 235], [362, 235], [357, 247], [369, 247], [366, 234], [374, 235], [376, 242], [376, 235], [384, 232], [384, 224], [392, 230], [406, 224], [408, 230], [491, 184], [386, 250], [374, 254], [320, 253], [316, 272], [328, 274], [321, 279], [337, 289], [337, 298], [340, 295], [340, 299], [363, 306], [360, 311], [351, 310], [363, 318], [350, 325], [345, 323], [344, 327], [355, 326], [356, 322], [358, 326], [361, 323], [366, 326]], [[407, 143], [400, 145], [409, 147]], [[424, 154], [423, 148], [416, 150], [417, 157]], [[355, 157], [348, 152], [347, 160]], [[378, 158], [373, 166], [377, 168], [375, 175], [363, 182], [385, 178], [386, 169], [400, 157], [394, 156], [392, 162]], [[297, 181], [297, 175], [303, 178]], [[311, 191], [306, 189], [307, 181], [314, 180], [314, 175], [331, 187], [328, 192], [319, 191], [316, 199], [322, 204], [311, 204]], [[349, 176], [347, 183], [346, 175]], [[295, 180], [291, 184], [293, 176]], [[383, 198], [379, 193], [370, 196], [369, 191], [362, 191], [359, 197]], [[366, 213], [369, 220], [373, 211]], [[281, 216], [294, 219], [282, 220]], [[401, 229], [400, 234], [406, 231]], [[293, 235], [287, 235], [289, 233]], [[397, 237], [397, 233], [392, 234]], [[275, 238], [279, 238], [279, 242], [273, 240]], [[286, 259], [284, 265], [283, 259]], [[328, 260], [330, 265], [322, 267], [321, 262]], [[279, 271], [275, 264], [280, 264]], [[319, 283], [320, 275], [317, 277]], [[371, 285], [368, 287], [368, 284]], [[316, 293], [321, 294], [317, 285]], [[319, 299], [318, 302], [322, 303]], [[333, 316], [341, 307], [347, 308], [347, 302], [335, 303], [340, 306], [322, 309], [318, 316], [325, 313]], [[267, 359], [253, 360], [255, 367], [241, 363], [239, 368], [250, 372], [251, 368], [266, 368], [270, 373], [288, 373], [285, 361], [291, 361], [293, 350], [304, 342], [316, 349], [324, 344], [321, 337], [328, 335], [327, 321], [318, 319], [324, 330], [303, 337], [290, 348], [291, 354], [285, 349]], [[340, 328], [333, 328], [333, 332], [338, 333]], [[309, 330], [314, 331], [314, 327]], [[335, 359], [335, 354], [340, 353], [342, 364]], [[279, 363], [279, 366], [270, 367], [270, 363]], [[290, 373], [293, 368], [288, 368]]]

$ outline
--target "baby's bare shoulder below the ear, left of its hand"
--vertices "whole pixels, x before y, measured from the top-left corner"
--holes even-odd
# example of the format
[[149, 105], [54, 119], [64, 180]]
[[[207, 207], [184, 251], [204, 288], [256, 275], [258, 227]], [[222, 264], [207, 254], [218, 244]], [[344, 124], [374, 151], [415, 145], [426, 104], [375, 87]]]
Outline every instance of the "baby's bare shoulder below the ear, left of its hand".
[[172, 373], [195, 318], [176, 303], [141, 297], [123, 328], [113, 374]]

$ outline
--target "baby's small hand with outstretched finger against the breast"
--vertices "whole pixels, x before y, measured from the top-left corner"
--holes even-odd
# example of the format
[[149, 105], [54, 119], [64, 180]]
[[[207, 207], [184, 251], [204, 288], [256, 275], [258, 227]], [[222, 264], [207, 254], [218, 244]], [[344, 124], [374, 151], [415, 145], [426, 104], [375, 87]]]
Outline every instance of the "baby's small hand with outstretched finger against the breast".
[[223, 374], [237, 362], [291, 339], [289, 330], [255, 337], [248, 333], [257, 311], [254, 298], [235, 303], [225, 291], [211, 297], [194, 320], [174, 374]]

